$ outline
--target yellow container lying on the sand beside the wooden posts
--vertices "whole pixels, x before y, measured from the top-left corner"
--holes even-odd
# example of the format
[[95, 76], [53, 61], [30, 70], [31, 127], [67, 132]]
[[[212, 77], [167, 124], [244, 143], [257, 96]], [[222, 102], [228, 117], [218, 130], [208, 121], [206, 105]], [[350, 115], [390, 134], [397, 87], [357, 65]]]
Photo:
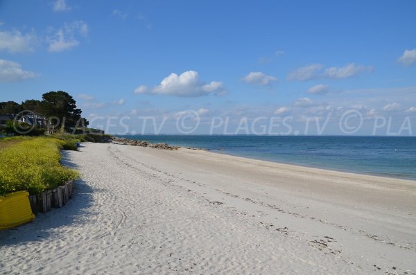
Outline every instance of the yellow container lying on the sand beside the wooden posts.
[[16, 227], [34, 219], [35, 215], [32, 213], [28, 191], [0, 196], [0, 229]]

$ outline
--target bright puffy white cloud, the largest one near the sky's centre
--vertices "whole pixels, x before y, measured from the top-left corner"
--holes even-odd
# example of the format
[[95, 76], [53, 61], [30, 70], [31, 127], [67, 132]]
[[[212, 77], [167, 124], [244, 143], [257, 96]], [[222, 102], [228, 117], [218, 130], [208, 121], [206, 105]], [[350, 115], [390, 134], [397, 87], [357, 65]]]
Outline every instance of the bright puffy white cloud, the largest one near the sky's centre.
[[221, 96], [225, 94], [225, 89], [222, 82], [212, 81], [206, 84], [200, 81], [198, 72], [185, 71], [180, 76], [171, 73], [160, 82], [159, 86], [148, 92], [168, 96], [206, 96], [208, 94]]

